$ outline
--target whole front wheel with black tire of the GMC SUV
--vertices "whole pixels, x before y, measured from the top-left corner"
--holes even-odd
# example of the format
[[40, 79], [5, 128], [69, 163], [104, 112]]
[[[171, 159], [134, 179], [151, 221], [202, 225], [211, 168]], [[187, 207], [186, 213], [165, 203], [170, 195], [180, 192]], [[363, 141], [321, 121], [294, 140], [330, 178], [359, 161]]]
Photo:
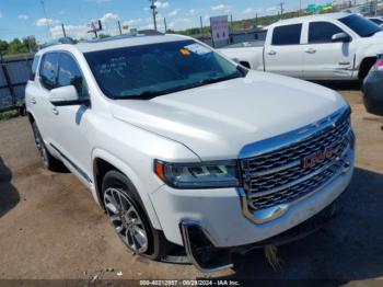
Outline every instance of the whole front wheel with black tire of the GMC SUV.
[[160, 261], [171, 245], [162, 231], [150, 223], [136, 187], [118, 171], [105, 174], [103, 199], [111, 225], [123, 243], [134, 253]]

